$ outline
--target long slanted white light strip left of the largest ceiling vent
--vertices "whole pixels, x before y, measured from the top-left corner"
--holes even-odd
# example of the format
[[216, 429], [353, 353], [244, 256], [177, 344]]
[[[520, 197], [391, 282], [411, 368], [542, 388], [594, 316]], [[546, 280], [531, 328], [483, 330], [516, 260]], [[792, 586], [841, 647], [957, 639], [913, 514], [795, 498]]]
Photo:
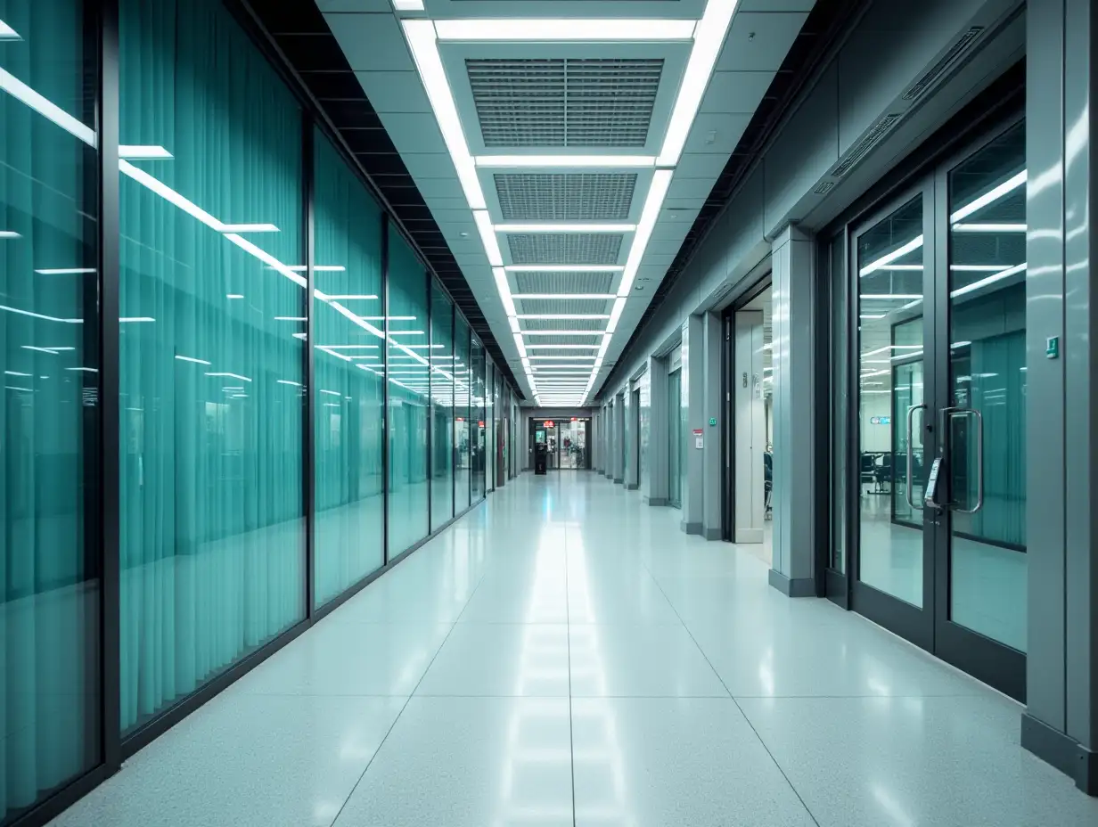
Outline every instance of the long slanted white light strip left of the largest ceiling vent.
[[[484, 21], [490, 22], [490, 21]], [[442, 68], [442, 59], [438, 55], [435, 24], [429, 20], [403, 20], [404, 36], [407, 38], [412, 57], [419, 69], [419, 79], [427, 90], [427, 99], [435, 112], [435, 120], [442, 132], [442, 139], [450, 153], [450, 160], [458, 171], [458, 180], [466, 193], [466, 201], [471, 210], [484, 210], [484, 192], [477, 177], [477, 165], [469, 154], [466, 134], [461, 130], [461, 119], [453, 103], [450, 82]]]

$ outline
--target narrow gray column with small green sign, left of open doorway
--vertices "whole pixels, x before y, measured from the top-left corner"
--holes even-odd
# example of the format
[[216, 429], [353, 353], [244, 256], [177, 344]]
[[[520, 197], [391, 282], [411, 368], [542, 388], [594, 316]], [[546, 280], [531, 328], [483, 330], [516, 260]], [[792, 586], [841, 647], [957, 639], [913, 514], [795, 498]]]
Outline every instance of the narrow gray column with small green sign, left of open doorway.
[[[702, 536], [719, 540], [724, 533], [724, 490], [720, 472], [724, 454], [720, 450], [724, 421], [724, 393], [721, 361], [725, 344], [725, 325], [718, 313], [706, 313], [702, 333], [705, 349], [703, 378], [702, 424], [705, 448], [702, 450]], [[716, 420], [716, 424], [714, 424]], [[695, 449], [696, 450], [696, 449]]]

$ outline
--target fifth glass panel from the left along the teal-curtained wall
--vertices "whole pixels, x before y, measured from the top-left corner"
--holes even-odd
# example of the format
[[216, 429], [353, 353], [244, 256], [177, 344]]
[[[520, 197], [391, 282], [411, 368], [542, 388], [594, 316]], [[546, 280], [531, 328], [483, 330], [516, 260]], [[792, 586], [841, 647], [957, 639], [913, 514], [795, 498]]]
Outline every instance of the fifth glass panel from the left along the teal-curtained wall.
[[430, 286], [430, 525], [453, 516], [453, 304]]

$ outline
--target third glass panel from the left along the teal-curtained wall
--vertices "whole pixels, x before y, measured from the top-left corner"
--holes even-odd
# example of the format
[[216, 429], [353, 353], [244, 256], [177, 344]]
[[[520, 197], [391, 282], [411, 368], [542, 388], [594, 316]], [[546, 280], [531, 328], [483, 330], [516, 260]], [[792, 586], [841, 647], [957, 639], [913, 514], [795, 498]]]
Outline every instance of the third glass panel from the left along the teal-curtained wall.
[[[314, 605], [384, 565], [381, 211], [335, 147], [314, 138]], [[347, 313], [346, 311], [350, 311]], [[280, 320], [287, 332], [300, 318]]]

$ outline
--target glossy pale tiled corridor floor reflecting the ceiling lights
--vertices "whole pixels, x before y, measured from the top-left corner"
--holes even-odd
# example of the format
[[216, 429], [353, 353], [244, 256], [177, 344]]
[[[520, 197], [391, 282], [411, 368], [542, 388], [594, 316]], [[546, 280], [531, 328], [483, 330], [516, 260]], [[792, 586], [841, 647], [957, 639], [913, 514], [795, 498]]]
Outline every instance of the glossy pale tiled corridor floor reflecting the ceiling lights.
[[1098, 824], [1020, 706], [680, 517], [508, 482], [56, 824]]

